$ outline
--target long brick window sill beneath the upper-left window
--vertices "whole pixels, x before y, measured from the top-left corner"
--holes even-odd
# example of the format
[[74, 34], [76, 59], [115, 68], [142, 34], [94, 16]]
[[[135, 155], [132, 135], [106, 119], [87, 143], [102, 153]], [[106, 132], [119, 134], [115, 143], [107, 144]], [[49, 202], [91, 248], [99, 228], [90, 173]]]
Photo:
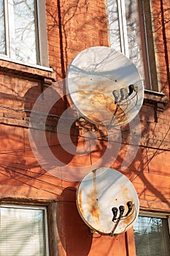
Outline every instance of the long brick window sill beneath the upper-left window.
[[0, 59], [0, 72], [6, 72], [12, 75], [25, 76], [35, 79], [50, 79], [56, 80], [56, 74], [53, 69], [41, 66], [28, 66], [17, 62]]

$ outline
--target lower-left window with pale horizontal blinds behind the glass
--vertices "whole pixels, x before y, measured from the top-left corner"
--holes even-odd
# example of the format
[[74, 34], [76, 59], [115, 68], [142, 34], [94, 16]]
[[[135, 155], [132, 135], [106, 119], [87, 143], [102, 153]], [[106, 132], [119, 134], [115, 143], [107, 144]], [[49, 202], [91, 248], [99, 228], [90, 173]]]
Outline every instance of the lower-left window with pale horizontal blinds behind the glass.
[[0, 218], [0, 255], [48, 255], [45, 208], [1, 206]]

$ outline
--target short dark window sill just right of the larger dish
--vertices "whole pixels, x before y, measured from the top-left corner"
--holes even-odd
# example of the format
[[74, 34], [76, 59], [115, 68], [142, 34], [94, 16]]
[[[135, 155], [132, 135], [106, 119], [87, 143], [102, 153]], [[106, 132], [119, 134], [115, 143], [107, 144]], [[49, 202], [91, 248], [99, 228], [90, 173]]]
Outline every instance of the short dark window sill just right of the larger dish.
[[168, 104], [168, 97], [157, 91], [144, 90], [144, 105], [145, 104], [155, 105], [157, 110], [162, 112]]

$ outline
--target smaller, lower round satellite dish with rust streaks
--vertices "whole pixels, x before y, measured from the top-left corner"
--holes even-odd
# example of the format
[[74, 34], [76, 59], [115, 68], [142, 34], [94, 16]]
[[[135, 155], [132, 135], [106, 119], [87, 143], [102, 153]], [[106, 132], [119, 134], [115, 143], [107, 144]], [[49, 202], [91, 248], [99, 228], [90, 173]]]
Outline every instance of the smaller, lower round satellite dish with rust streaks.
[[129, 179], [117, 170], [90, 171], [77, 189], [77, 208], [85, 223], [101, 235], [128, 230], [139, 214], [139, 200]]

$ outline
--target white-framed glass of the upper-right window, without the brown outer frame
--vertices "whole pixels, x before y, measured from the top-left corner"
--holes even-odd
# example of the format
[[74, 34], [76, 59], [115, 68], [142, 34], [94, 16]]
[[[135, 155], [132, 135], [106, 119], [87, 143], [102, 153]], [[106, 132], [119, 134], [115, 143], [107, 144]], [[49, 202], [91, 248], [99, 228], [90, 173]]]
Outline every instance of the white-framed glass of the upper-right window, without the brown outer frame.
[[110, 46], [125, 54], [144, 79], [138, 1], [107, 0]]

